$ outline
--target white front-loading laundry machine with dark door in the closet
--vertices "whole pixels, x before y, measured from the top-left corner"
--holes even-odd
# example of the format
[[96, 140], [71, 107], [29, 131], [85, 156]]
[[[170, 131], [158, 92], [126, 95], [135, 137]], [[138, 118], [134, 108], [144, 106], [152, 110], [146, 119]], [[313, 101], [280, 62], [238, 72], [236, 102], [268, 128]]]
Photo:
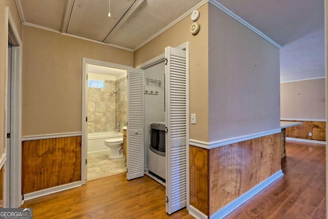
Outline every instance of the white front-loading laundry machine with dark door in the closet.
[[165, 122], [149, 124], [148, 170], [166, 182], [166, 136]]

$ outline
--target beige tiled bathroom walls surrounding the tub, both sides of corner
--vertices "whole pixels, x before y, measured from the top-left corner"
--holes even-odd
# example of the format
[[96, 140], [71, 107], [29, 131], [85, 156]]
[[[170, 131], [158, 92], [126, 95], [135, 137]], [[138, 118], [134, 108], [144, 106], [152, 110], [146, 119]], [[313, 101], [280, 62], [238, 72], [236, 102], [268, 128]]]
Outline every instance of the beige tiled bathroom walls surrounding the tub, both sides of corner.
[[127, 93], [126, 77], [105, 80], [105, 88], [88, 87], [88, 133], [115, 131], [118, 122], [127, 125]]

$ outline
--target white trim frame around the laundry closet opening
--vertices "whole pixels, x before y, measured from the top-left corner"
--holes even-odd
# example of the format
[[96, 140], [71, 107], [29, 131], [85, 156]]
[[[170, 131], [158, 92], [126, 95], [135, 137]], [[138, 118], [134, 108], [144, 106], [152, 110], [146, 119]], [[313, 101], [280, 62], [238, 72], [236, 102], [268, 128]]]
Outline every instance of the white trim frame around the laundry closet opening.
[[[189, 42], [183, 43], [180, 46], [175, 47], [177, 49], [181, 49], [181, 50], [186, 50], [186, 62], [187, 62], [187, 71], [189, 72]], [[165, 49], [165, 48], [163, 48]], [[140, 68], [140, 69], [145, 69], [147, 67], [150, 67], [152, 65], [156, 65], [159, 62], [162, 62], [163, 60], [165, 60], [165, 53], [162, 53], [154, 58], [151, 58], [149, 61], [142, 63], [140, 65], [138, 65], [136, 68]], [[187, 83], [189, 83], [189, 78], [187, 78]], [[166, 91], [167, 92], [167, 91]], [[188, 91], [189, 93], [189, 91]], [[166, 94], [167, 95], [167, 94]], [[166, 116], [167, 116], [167, 111], [165, 112]], [[189, 95], [187, 98], [187, 136], [186, 136], [186, 149], [187, 149], [187, 182], [186, 182], [186, 187], [187, 187], [187, 210], [189, 211], [189, 206], [190, 206], [190, 170], [189, 170]], [[145, 167], [146, 169], [146, 167]]]

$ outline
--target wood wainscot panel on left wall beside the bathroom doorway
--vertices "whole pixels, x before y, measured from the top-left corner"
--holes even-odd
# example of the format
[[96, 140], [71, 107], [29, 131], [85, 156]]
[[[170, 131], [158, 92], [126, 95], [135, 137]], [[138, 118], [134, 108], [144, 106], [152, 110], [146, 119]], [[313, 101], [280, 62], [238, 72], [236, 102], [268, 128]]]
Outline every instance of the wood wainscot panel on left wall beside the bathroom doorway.
[[25, 141], [22, 147], [23, 194], [81, 180], [81, 136]]

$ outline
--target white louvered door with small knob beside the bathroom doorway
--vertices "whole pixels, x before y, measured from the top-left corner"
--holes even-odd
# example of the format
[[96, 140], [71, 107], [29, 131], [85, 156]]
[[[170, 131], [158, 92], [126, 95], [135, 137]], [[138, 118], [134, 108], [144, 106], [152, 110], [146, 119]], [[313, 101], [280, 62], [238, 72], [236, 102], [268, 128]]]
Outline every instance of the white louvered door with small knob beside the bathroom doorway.
[[144, 176], [144, 71], [128, 71], [127, 179]]

